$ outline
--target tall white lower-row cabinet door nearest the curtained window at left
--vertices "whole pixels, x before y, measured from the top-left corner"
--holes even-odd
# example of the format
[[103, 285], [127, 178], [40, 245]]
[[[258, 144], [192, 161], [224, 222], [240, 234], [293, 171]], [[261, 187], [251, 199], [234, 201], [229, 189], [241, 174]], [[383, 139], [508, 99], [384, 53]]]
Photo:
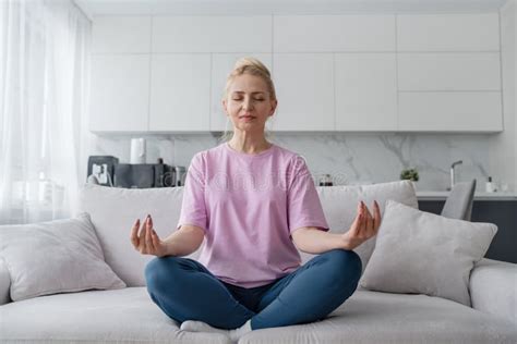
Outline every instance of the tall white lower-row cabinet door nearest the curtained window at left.
[[93, 54], [91, 85], [91, 131], [147, 131], [148, 54]]

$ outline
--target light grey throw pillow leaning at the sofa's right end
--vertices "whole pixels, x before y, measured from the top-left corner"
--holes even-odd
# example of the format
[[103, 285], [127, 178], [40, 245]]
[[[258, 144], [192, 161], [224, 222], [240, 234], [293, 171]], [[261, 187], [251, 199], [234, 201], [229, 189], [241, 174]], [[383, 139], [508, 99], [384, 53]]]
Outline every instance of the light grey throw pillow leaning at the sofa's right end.
[[388, 200], [362, 287], [425, 294], [470, 306], [470, 271], [497, 232], [492, 223], [447, 219]]

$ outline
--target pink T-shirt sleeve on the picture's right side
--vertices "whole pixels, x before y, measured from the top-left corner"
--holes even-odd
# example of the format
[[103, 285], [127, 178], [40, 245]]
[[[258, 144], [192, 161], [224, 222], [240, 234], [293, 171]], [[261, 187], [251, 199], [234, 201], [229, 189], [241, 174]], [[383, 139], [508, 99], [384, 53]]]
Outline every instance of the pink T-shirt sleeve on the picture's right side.
[[328, 224], [306, 163], [300, 156], [294, 159], [292, 180], [287, 192], [289, 233], [302, 226], [316, 226], [328, 231]]

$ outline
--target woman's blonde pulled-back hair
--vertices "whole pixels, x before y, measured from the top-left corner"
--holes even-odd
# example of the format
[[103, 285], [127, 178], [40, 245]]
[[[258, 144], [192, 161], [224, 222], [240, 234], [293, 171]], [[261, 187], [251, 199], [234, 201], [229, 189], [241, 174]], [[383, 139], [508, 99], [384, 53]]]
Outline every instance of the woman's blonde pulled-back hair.
[[[277, 100], [275, 85], [273, 84], [269, 70], [258, 59], [251, 58], [251, 57], [241, 58], [236, 62], [236, 64], [233, 65], [233, 71], [231, 71], [231, 73], [227, 77], [225, 91], [223, 94], [223, 99], [228, 98], [228, 90], [230, 89], [230, 86], [233, 79], [237, 76], [240, 76], [243, 74], [250, 74], [250, 75], [261, 77], [266, 83], [267, 90], [269, 91], [269, 98], [273, 100]], [[219, 138], [220, 142], [227, 142], [233, 135], [231, 132], [228, 132], [228, 128], [227, 128], [228, 122], [229, 122], [229, 119], [227, 118], [226, 120], [227, 125], [225, 127], [225, 133]], [[269, 133], [267, 131], [265, 133], [265, 136], [269, 137]]]

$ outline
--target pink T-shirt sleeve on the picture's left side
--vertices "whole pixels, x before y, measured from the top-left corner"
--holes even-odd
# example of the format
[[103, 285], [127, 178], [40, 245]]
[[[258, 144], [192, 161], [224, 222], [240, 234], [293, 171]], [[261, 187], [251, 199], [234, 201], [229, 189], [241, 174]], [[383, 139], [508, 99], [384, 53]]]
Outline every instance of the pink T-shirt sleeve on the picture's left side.
[[205, 176], [202, 153], [196, 153], [190, 163], [183, 186], [180, 220], [177, 229], [182, 224], [193, 224], [207, 231], [207, 216], [205, 204]]

